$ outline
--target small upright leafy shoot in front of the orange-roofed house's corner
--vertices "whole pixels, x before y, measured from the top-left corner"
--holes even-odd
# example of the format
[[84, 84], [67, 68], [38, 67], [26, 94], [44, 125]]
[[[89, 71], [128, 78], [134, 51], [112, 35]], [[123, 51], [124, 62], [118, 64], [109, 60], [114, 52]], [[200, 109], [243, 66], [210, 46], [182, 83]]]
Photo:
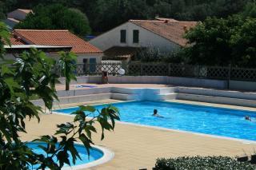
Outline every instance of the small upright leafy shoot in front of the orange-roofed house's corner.
[[72, 52], [61, 52], [59, 65], [61, 74], [66, 78], [66, 90], [70, 90], [70, 81], [77, 80], [74, 72], [76, 71], [77, 56]]

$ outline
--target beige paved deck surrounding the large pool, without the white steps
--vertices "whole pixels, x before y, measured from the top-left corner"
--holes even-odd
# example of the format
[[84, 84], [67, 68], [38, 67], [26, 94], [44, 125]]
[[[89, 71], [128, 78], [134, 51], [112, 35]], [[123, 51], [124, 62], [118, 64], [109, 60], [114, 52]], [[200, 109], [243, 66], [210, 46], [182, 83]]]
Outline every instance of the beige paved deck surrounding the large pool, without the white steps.
[[[117, 102], [115, 100], [95, 101], [83, 103], [84, 105], [94, 105], [98, 103]], [[206, 104], [193, 101], [174, 101], [190, 103], [196, 105], [211, 105], [217, 107], [248, 109], [253, 108]], [[63, 105], [70, 107], [78, 104]], [[81, 105], [81, 104], [79, 104]], [[235, 107], [235, 108], [234, 108]], [[41, 122], [27, 121], [27, 133], [22, 134], [22, 140], [33, 140], [38, 136], [52, 135], [56, 125], [72, 121], [73, 117], [58, 114], [42, 114]], [[109, 148], [114, 152], [113, 160], [106, 164], [96, 166], [93, 169], [114, 170], [114, 169], [140, 169], [154, 167], [158, 157], [177, 156], [242, 156], [250, 154], [256, 150], [256, 143], [248, 143], [239, 140], [229, 140], [213, 136], [198, 135], [191, 132], [178, 132], [161, 128], [150, 128], [139, 125], [129, 125], [118, 122], [114, 132], [106, 132], [106, 138], [100, 140], [100, 129], [98, 134], [93, 136], [95, 144]]]

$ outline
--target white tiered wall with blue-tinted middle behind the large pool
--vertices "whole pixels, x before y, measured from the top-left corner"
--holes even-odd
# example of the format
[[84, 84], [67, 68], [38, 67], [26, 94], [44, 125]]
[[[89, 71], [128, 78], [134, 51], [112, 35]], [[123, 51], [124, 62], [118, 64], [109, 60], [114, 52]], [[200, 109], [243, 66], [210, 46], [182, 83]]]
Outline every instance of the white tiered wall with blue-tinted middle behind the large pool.
[[[227, 105], [241, 105], [256, 107], [256, 93], [243, 93], [240, 91], [228, 91], [221, 89], [203, 89], [194, 87], [166, 87], [166, 88], [118, 88], [105, 87], [93, 89], [74, 89], [66, 92], [58, 91], [58, 105], [100, 101], [105, 99], [117, 99], [122, 101], [165, 101], [165, 100], [186, 100], [203, 101]], [[33, 101], [35, 105], [43, 105], [42, 100]]]

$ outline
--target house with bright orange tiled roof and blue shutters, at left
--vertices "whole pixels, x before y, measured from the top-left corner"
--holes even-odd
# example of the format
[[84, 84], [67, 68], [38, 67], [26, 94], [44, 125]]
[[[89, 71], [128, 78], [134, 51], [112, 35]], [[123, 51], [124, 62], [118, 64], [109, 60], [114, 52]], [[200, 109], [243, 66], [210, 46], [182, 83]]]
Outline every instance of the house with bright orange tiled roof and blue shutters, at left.
[[[10, 39], [12, 45], [70, 46], [78, 55], [78, 63], [101, 63], [102, 50], [71, 34], [69, 30], [14, 30]], [[56, 53], [51, 57], [58, 58]]]

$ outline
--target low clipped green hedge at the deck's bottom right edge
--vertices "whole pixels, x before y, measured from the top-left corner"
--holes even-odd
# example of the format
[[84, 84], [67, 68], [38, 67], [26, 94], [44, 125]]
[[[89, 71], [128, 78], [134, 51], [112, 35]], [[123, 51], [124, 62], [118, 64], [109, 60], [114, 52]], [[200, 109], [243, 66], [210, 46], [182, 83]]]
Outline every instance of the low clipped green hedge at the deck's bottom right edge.
[[154, 170], [244, 170], [256, 169], [250, 163], [242, 163], [230, 157], [223, 156], [194, 156], [178, 157], [175, 159], [158, 159]]

